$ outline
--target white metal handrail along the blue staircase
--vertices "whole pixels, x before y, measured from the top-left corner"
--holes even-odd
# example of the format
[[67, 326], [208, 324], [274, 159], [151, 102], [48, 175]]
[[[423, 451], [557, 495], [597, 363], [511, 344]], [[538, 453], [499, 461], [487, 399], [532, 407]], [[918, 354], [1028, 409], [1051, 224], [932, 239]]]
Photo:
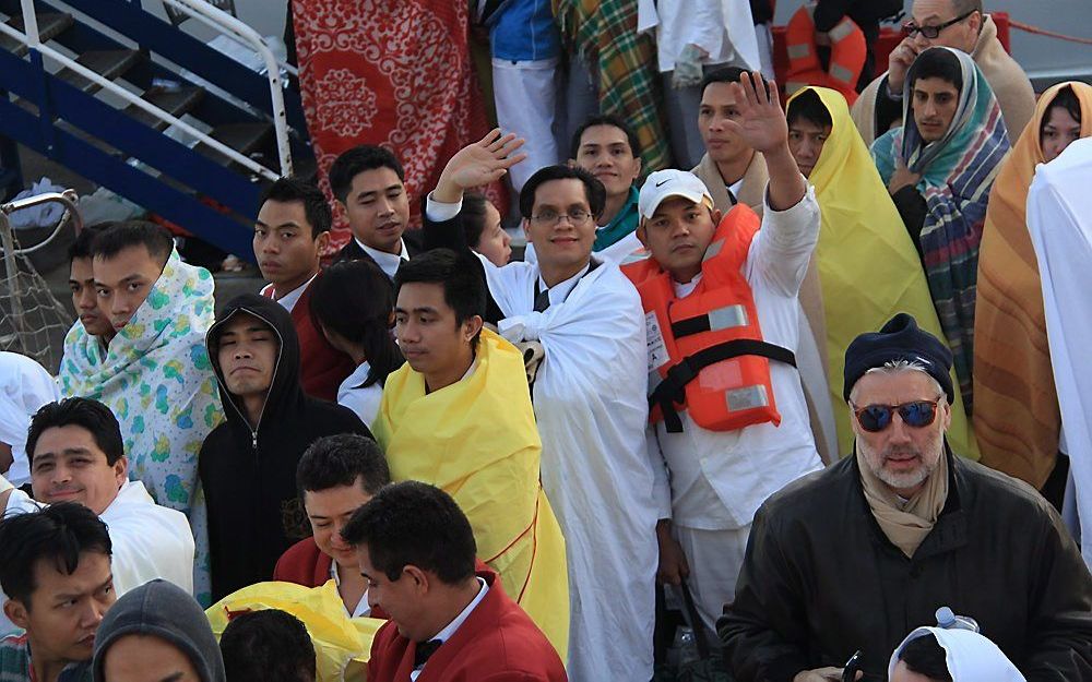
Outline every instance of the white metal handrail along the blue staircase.
[[[280, 165], [281, 165], [280, 176], [292, 175], [292, 151], [288, 145], [288, 125], [284, 107], [284, 94], [281, 89], [281, 73], [276, 68], [277, 62], [276, 58], [273, 56], [273, 52], [269, 49], [269, 47], [265, 46], [265, 44], [261, 39], [261, 36], [259, 36], [254, 29], [250, 28], [249, 26], [247, 26], [239, 20], [235, 19], [230, 14], [227, 14], [226, 12], [222, 12], [221, 10], [212, 8], [211, 5], [194, 9], [195, 5], [205, 4], [201, 0], [166, 0], [166, 1], [171, 2], [173, 4], [177, 3], [179, 7], [186, 8], [187, 10], [193, 10], [194, 12], [198, 13], [210, 12], [210, 13], [215, 13], [214, 15], [217, 14], [222, 15], [222, 16], [216, 16], [216, 19], [218, 21], [223, 20], [226, 26], [230, 26], [233, 33], [235, 33], [236, 29], [238, 29], [240, 34], [249, 32], [247, 37], [245, 37], [244, 39], [252, 47], [256, 47], [256, 49], [258, 49], [258, 52], [262, 56], [262, 59], [265, 61], [268, 68], [272, 67], [266, 75], [270, 81], [271, 96], [273, 98], [273, 128], [276, 135], [277, 156], [280, 157]], [[0, 33], [7, 34], [8, 36], [14, 38], [15, 40], [19, 40], [20, 43], [26, 45], [27, 48], [32, 50], [37, 50], [44, 57], [49, 57], [50, 59], [61, 64], [62, 67], [78, 73], [79, 75], [83, 76], [88, 81], [94, 82], [103, 89], [120, 97], [124, 101], [140, 108], [142, 111], [155, 117], [156, 119], [178, 128], [182, 132], [195, 137], [199, 142], [204, 143], [212, 149], [218, 152], [219, 154], [223, 154], [224, 156], [232, 159], [236, 164], [239, 164], [240, 166], [262, 176], [263, 178], [266, 178], [269, 180], [276, 180], [280, 177], [276, 171], [266, 168], [265, 166], [259, 164], [252, 158], [246, 156], [245, 154], [241, 154], [238, 151], [233, 149], [223, 142], [215, 140], [211, 135], [198, 130], [197, 128], [179, 119], [178, 117], [161, 109], [159, 107], [151, 104], [150, 101], [142, 99], [139, 95], [135, 95], [127, 91], [126, 88], [117, 85], [116, 83], [112, 83], [108, 79], [103, 77], [100, 74], [95, 73], [94, 71], [84, 67], [83, 64], [80, 64], [76, 61], [69, 59], [68, 57], [57, 51], [56, 49], [49, 47], [48, 45], [44, 45], [38, 34], [38, 19], [37, 15], [34, 13], [34, 0], [21, 0], [21, 5], [23, 10], [23, 27], [25, 33], [20, 33], [19, 31], [12, 28], [11, 26], [2, 23], [0, 23]], [[201, 14], [201, 16], [204, 15]], [[239, 26], [241, 26], [246, 31], [239, 29]], [[240, 35], [240, 37], [242, 36]], [[257, 40], [258, 46], [260, 46], [260, 48], [253, 45], [254, 40]]]

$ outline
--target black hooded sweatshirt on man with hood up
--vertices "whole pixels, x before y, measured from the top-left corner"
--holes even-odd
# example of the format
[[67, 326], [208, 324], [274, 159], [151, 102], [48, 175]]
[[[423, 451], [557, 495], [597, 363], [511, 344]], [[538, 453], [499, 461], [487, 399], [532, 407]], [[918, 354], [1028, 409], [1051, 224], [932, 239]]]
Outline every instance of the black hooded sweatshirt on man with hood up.
[[[280, 340], [273, 383], [254, 428], [242, 400], [228, 393], [217, 354], [225, 323], [240, 313], [263, 321]], [[198, 460], [209, 510], [212, 596], [218, 600], [272, 579], [281, 554], [310, 535], [296, 488], [304, 451], [323, 435], [371, 438], [371, 432], [353, 410], [304, 394], [296, 327], [276, 301], [257, 294], [236, 297], [216, 315], [205, 345], [227, 416], [205, 439]]]

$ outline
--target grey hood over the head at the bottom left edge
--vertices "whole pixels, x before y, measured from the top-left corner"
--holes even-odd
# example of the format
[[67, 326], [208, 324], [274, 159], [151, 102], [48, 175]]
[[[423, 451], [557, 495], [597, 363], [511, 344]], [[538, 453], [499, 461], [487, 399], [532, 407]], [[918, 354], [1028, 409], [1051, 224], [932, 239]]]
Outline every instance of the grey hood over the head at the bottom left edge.
[[186, 590], [167, 581], [155, 579], [126, 593], [107, 611], [95, 636], [95, 682], [106, 680], [106, 653], [126, 635], [159, 637], [186, 654], [201, 682], [227, 682], [224, 658], [204, 611]]

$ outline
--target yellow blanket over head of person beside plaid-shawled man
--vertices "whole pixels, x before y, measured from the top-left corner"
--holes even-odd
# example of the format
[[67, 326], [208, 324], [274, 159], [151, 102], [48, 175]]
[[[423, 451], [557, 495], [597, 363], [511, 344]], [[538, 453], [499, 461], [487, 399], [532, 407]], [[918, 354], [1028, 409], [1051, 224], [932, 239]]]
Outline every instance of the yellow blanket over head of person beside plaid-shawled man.
[[[850, 118], [845, 99], [824, 87], [807, 87], [830, 111], [833, 127], [808, 180], [816, 188], [822, 227], [816, 255], [827, 314], [830, 399], [842, 453], [851, 452], [853, 432], [842, 398], [845, 348], [863, 332], [875, 332], [898, 312], [909, 312], [938, 338], [940, 322], [902, 218], [871, 155]], [[978, 458], [978, 448], [958, 395], [948, 440], [957, 454]]]

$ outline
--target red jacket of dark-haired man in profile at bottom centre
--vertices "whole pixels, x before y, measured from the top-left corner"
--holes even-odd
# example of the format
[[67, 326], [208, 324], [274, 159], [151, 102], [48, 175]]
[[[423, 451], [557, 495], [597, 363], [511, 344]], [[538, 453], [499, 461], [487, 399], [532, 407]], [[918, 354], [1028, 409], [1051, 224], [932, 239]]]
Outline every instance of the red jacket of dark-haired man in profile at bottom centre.
[[[478, 570], [489, 591], [428, 659], [417, 682], [567, 682], [546, 635], [505, 594], [497, 573]], [[410, 682], [417, 645], [388, 621], [371, 645], [368, 682]]]

